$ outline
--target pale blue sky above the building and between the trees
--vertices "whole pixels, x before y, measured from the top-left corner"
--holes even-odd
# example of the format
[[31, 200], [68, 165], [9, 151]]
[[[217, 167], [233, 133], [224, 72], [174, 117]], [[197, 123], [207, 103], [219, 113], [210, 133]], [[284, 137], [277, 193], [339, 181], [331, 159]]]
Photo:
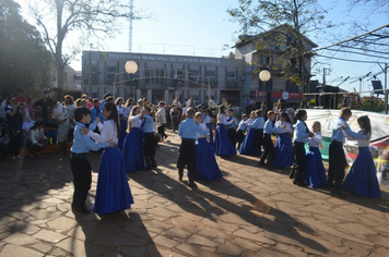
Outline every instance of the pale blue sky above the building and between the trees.
[[[23, 3], [27, 0], [17, 1]], [[225, 45], [234, 45], [239, 34], [239, 26], [229, 21], [226, 10], [237, 7], [238, 0], [134, 0], [133, 2], [135, 9], [141, 7], [155, 16], [150, 21], [133, 21], [133, 52], [221, 57], [234, 51], [234, 49], [225, 48]], [[361, 19], [364, 12], [363, 7], [349, 12], [344, 0], [319, 0], [319, 3], [323, 8], [330, 9], [326, 19], [335, 24], [349, 24], [354, 20]], [[386, 21], [388, 19], [385, 15], [375, 14], [374, 19], [370, 19], [368, 29], [385, 25]], [[98, 48], [98, 50], [128, 51], [128, 22], [120, 21], [118, 25], [121, 26], [121, 34], [107, 40], [105, 46]], [[334, 28], [334, 33], [339, 35], [340, 39], [346, 39], [349, 38], [346, 36], [347, 29], [347, 25], [343, 25]], [[330, 41], [333, 42], [331, 35], [320, 36], [322, 38], [316, 38], [314, 35], [309, 38], [319, 47], [328, 46]], [[73, 38], [76, 37], [68, 36], [69, 44], [73, 44]], [[81, 70], [81, 56], [78, 59], [79, 61], [73, 61], [71, 66], [75, 70]], [[335, 60], [332, 60], [326, 68], [331, 69], [330, 75], [326, 76], [326, 81], [328, 83], [334, 81], [333, 85], [342, 82], [341, 76], [351, 76], [357, 79], [357, 77], [368, 72], [377, 73], [380, 71], [378, 64], [356, 64]], [[322, 82], [322, 69], [316, 72], [314, 79], [316, 78]], [[380, 75], [379, 78], [384, 84], [384, 75]], [[352, 90], [355, 87], [358, 90], [359, 83], [350, 84], [350, 81], [343, 83], [341, 88]], [[368, 85], [369, 82], [364, 79], [362, 89], [367, 90]]]

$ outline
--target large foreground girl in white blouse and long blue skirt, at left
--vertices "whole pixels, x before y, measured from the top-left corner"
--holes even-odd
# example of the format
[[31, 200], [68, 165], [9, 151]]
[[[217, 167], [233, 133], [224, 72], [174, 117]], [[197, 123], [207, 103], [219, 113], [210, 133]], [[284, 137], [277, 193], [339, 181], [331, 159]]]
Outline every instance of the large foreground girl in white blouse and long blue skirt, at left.
[[[104, 125], [97, 123], [101, 134], [83, 128], [94, 140], [117, 143], [120, 135], [118, 112], [115, 103], [106, 102], [103, 108]], [[94, 212], [102, 216], [115, 211], [125, 210], [133, 204], [130, 186], [126, 175], [125, 161], [118, 147], [104, 149], [98, 168], [97, 188]]]

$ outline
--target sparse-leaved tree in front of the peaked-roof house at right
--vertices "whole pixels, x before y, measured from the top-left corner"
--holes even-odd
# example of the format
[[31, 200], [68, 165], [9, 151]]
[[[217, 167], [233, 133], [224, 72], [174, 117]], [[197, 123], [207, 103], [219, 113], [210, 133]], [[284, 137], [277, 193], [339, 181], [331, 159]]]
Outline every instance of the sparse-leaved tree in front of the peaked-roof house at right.
[[232, 20], [241, 25], [246, 35], [262, 36], [256, 41], [257, 50], [281, 58], [274, 60], [271, 70], [306, 91], [309, 82], [311, 56], [307, 54], [308, 35], [331, 27], [325, 23], [326, 10], [317, 0], [239, 0], [239, 7], [227, 10]]

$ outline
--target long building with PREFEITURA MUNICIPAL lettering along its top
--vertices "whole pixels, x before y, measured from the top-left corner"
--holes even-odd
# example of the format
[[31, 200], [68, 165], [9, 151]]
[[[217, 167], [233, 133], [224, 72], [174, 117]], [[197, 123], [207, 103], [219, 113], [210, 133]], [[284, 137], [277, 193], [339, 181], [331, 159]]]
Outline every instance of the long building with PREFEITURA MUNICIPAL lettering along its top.
[[[135, 74], [125, 72], [127, 61], [137, 62]], [[205, 103], [210, 91], [219, 102], [241, 102], [241, 59], [83, 51], [82, 63], [82, 93], [94, 98], [114, 95], [116, 79], [115, 97], [125, 99], [146, 97], [153, 103], [170, 103], [175, 97], [192, 97]]]

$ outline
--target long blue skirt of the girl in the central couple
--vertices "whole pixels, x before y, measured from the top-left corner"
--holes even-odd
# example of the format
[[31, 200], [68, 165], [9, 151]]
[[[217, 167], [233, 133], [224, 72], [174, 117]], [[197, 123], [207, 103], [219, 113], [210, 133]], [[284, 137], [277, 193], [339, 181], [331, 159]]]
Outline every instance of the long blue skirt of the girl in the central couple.
[[219, 169], [212, 147], [207, 138], [199, 138], [196, 144], [196, 169], [197, 176], [204, 181], [214, 181], [223, 176]]

